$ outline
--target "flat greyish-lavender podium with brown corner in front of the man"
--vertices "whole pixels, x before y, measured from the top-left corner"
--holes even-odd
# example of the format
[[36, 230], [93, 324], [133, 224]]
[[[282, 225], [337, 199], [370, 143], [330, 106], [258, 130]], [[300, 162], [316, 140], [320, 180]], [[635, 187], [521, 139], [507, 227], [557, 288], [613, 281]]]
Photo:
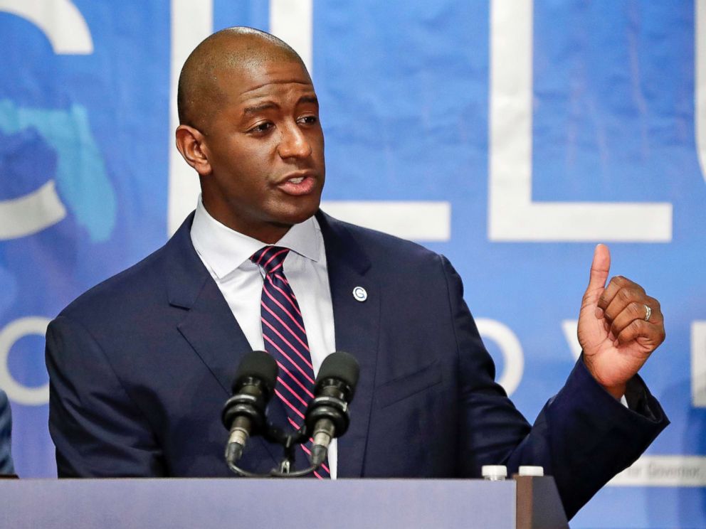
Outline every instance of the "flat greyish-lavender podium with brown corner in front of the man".
[[568, 528], [551, 477], [19, 479], [0, 481], [2, 527]]

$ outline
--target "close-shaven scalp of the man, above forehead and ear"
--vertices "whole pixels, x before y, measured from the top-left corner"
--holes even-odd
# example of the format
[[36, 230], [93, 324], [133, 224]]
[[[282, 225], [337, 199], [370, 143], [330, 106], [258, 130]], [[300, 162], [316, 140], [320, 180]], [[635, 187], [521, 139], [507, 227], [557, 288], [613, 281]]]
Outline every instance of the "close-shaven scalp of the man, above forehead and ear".
[[201, 132], [211, 116], [226, 102], [223, 74], [238, 74], [270, 62], [296, 62], [306, 67], [287, 43], [253, 28], [226, 28], [196, 46], [179, 75], [177, 109], [179, 124]]

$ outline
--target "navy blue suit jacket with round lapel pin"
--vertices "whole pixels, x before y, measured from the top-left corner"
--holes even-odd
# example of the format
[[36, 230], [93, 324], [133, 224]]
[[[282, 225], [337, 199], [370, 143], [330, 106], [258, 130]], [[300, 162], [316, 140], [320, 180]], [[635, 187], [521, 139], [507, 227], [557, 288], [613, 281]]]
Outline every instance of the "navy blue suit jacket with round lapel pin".
[[[191, 218], [49, 326], [49, 426], [60, 476], [230, 475], [220, 412], [250, 348], [191, 245]], [[530, 427], [494, 382], [445, 257], [317, 218], [336, 347], [361, 368], [352, 423], [339, 439], [339, 476], [480, 476], [483, 464], [539, 464], [572, 515], [667, 424], [646, 390], [641, 415], [579, 362]], [[354, 299], [354, 287], [366, 289], [366, 301]], [[279, 402], [270, 417], [285, 424]], [[241, 463], [263, 472], [280, 456], [252, 439]]]

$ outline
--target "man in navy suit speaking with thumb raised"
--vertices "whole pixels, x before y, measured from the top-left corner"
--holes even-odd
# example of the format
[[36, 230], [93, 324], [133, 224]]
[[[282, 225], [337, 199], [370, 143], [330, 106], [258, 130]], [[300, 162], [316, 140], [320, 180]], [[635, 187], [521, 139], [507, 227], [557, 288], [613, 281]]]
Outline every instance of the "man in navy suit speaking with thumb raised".
[[[584, 356], [530, 427], [493, 381], [446, 258], [318, 210], [318, 104], [285, 43], [249, 28], [207, 38], [181, 72], [179, 116], [177, 146], [201, 181], [196, 212], [48, 328], [60, 476], [227, 476], [219, 413], [241, 356], [263, 347], [280, 364], [269, 412], [282, 426], [297, 424], [327, 353], [359, 360], [332, 476], [540, 464], [571, 516], [667, 424], [636, 375], [664, 338], [659, 304], [628, 279], [605, 287], [599, 245]], [[251, 439], [241, 466], [265, 472], [280, 456]]]

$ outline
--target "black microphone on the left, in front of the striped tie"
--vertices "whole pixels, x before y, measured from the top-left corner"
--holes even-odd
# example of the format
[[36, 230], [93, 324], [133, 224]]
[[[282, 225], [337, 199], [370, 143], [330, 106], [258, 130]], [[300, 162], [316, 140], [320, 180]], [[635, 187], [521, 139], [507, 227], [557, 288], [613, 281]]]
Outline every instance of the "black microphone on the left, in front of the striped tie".
[[226, 461], [241, 459], [248, 437], [257, 435], [265, 426], [265, 408], [273, 395], [278, 375], [277, 362], [265, 351], [251, 351], [243, 356], [233, 396], [221, 412], [223, 426], [231, 432], [226, 444]]

